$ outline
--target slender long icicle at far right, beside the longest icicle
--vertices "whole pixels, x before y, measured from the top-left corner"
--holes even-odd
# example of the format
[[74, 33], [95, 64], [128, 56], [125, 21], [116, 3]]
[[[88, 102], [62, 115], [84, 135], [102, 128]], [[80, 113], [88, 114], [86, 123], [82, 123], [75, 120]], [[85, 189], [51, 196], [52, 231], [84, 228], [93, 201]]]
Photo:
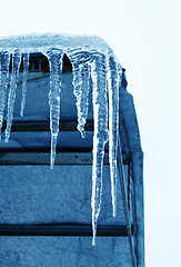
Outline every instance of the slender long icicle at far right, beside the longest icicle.
[[109, 161], [113, 217], [117, 216], [117, 147], [119, 123], [119, 71], [113, 56], [109, 57]]

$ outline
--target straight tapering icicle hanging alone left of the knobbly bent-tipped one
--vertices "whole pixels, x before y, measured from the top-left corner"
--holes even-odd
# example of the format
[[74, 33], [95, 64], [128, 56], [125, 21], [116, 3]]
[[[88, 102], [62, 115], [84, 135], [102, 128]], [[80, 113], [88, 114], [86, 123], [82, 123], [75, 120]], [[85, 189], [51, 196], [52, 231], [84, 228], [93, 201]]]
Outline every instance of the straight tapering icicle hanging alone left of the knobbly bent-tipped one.
[[60, 120], [60, 91], [62, 75], [62, 57], [63, 52], [59, 49], [51, 49], [47, 52], [50, 65], [50, 130], [51, 130], [51, 156], [50, 168], [53, 169], [56, 160], [57, 138], [59, 134]]

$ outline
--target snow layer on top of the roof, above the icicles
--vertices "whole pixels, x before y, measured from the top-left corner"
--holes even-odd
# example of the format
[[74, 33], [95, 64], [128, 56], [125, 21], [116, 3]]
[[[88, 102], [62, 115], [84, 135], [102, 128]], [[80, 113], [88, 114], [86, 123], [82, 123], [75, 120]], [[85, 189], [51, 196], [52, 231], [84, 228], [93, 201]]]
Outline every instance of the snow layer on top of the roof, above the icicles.
[[97, 36], [77, 34], [24, 34], [0, 38], [0, 49], [20, 49], [21, 51], [40, 51], [40, 48], [59, 48], [68, 50], [70, 48], [95, 48], [103, 51], [111, 51], [108, 43]]

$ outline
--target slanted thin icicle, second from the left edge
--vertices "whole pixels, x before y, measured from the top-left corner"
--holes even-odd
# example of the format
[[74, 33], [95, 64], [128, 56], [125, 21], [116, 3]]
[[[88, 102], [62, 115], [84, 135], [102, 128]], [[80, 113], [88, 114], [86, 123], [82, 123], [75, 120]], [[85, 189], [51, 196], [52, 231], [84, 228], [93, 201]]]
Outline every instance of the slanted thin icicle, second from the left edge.
[[16, 50], [14, 53], [12, 55], [12, 73], [11, 73], [10, 90], [9, 90], [9, 98], [8, 98], [6, 142], [8, 142], [10, 132], [11, 132], [20, 63], [21, 63], [21, 53], [19, 52], [19, 50]]

